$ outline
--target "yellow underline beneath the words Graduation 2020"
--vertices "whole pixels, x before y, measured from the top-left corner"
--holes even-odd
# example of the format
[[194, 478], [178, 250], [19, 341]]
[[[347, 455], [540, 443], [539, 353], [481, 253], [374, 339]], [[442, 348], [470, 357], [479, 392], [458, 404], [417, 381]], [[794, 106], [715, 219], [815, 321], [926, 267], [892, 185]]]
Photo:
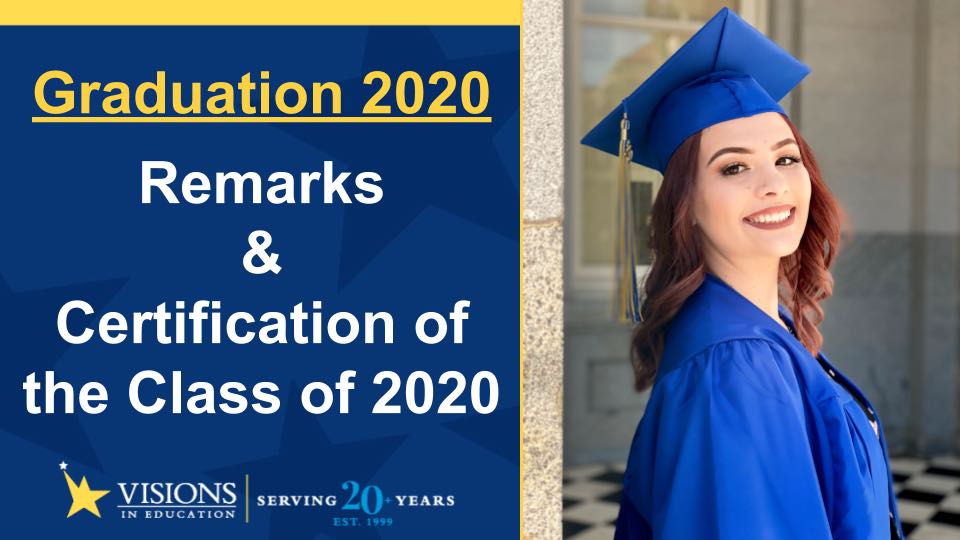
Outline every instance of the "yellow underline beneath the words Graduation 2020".
[[33, 116], [35, 124], [489, 124], [490, 116]]

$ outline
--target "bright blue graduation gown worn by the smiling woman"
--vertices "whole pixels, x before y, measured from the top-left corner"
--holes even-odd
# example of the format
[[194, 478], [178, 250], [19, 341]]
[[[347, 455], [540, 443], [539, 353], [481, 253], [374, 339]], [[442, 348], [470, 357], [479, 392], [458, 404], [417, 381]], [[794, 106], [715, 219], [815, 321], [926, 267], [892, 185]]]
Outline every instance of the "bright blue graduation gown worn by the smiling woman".
[[665, 339], [615, 540], [903, 539], [880, 419], [788, 330], [707, 273]]

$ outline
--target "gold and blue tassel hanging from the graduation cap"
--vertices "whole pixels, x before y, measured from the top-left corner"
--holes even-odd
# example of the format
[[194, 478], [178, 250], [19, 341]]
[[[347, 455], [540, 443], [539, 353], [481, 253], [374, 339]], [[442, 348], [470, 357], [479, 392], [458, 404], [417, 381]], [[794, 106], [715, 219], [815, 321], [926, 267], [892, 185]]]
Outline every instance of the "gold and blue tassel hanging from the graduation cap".
[[633, 197], [631, 196], [630, 162], [633, 147], [628, 132], [630, 120], [623, 111], [620, 120], [619, 171], [617, 175], [617, 298], [615, 305], [621, 322], [636, 323], [640, 317], [639, 292], [637, 290], [636, 234], [634, 230]]

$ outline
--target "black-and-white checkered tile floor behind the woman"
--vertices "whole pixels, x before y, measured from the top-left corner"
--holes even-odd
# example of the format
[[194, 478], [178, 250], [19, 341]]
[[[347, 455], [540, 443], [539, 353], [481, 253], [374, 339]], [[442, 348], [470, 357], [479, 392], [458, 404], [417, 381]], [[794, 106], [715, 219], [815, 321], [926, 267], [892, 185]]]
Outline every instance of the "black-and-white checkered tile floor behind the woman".
[[[563, 474], [563, 537], [610, 540], [620, 509], [622, 463], [570, 467]], [[895, 458], [897, 507], [910, 540], [960, 540], [960, 458]]]

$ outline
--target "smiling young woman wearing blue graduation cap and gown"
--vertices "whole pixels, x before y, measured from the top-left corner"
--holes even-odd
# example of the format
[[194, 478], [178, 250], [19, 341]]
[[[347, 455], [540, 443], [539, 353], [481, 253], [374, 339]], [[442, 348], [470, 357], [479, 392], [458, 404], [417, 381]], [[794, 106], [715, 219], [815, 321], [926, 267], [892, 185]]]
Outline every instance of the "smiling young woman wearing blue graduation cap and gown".
[[777, 105], [808, 72], [723, 9], [584, 139], [664, 174], [617, 540], [903, 538], [880, 419], [820, 352], [842, 214]]

